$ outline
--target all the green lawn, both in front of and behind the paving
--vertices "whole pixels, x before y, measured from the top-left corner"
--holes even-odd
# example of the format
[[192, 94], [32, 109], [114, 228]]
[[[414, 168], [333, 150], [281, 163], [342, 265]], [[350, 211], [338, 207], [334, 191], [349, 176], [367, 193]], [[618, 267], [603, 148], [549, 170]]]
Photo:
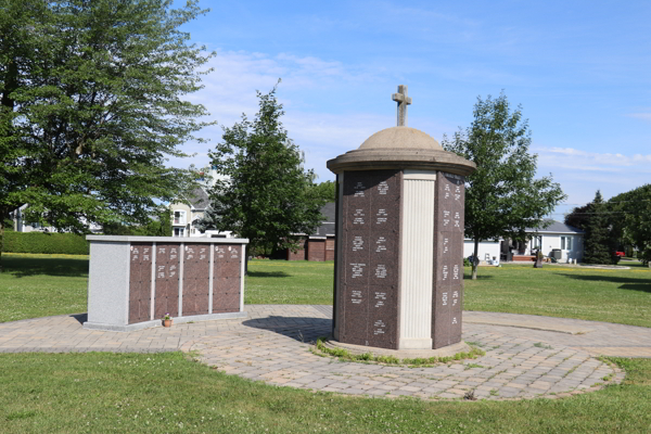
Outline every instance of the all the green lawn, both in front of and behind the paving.
[[[0, 321], [86, 310], [86, 257], [2, 257]], [[330, 304], [332, 271], [253, 260], [246, 303]], [[651, 327], [650, 291], [642, 268], [481, 268], [465, 308]], [[0, 433], [648, 433], [651, 359], [616, 362], [624, 384], [597, 393], [427, 403], [275, 387], [181, 353], [0, 354]]]

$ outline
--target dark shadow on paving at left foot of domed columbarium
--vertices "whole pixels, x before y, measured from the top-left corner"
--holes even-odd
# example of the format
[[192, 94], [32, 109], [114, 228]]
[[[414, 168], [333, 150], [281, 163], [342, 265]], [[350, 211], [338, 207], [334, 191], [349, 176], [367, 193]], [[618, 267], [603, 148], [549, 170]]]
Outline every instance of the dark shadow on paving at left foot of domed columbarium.
[[330, 335], [332, 332], [332, 320], [329, 318], [275, 316], [250, 319], [242, 324], [254, 329], [269, 330], [305, 343], [317, 342], [317, 339]]

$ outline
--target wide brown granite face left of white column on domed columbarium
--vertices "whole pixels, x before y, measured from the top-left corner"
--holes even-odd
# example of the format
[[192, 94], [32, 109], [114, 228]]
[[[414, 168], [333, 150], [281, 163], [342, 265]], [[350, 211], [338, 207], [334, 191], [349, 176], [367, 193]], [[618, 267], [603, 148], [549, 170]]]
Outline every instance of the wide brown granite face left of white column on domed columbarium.
[[[341, 272], [335, 306], [340, 341], [395, 348], [400, 173], [346, 171], [342, 188], [343, 233], [337, 233], [342, 255], [337, 257]], [[376, 293], [387, 304], [374, 307]]]

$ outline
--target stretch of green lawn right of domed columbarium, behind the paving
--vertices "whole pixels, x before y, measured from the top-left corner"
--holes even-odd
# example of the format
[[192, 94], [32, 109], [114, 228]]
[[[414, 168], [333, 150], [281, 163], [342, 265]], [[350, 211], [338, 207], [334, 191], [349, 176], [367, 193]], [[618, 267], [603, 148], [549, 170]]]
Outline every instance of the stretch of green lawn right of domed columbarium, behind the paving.
[[[628, 264], [627, 264], [628, 265]], [[465, 269], [465, 310], [546, 315], [651, 327], [651, 270], [506, 265]]]

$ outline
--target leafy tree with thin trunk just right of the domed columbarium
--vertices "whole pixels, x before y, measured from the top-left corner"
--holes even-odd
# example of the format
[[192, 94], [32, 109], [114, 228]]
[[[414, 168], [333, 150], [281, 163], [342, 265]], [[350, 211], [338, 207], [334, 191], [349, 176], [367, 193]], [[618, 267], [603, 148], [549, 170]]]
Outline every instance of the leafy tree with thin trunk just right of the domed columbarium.
[[[477, 170], [465, 178], [465, 235], [478, 244], [499, 237], [524, 239], [525, 228], [542, 227], [549, 214], [565, 195], [551, 175], [535, 179], [537, 156], [528, 153], [532, 142], [521, 107], [509, 108], [507, 97], [477, 98], [474, 120], [443, 146], [474, 162]], [[472, 265], [472, 279], [477, 261]]]

